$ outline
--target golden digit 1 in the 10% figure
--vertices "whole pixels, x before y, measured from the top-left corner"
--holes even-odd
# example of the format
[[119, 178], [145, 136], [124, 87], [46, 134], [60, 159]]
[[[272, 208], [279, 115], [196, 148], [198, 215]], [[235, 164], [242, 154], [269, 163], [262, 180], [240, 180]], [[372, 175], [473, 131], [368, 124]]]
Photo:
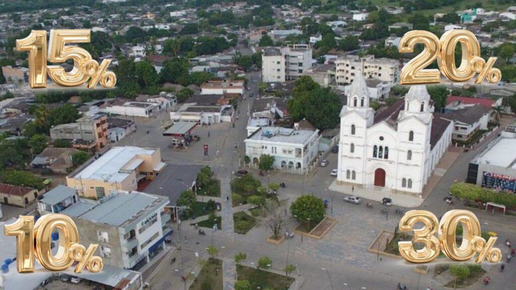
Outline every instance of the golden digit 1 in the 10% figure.
[[34, 216], [20, 216], [4, 225], [6, 236], [16, 236], [16, 266], [19, 273], [34, 272]]

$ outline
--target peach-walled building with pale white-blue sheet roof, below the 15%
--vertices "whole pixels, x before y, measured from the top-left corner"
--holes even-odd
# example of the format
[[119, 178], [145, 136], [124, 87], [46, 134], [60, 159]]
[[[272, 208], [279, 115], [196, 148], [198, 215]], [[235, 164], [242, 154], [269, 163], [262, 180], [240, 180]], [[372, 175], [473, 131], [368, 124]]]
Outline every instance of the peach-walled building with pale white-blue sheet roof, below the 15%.
[[90, 160], [67, 176], [66, 182], [79, 196], [91, 199], [102, 199], [116, 190], [136, 190], [138, 182], [154, 179], [166, 166], [159, 148], [113, 147]]

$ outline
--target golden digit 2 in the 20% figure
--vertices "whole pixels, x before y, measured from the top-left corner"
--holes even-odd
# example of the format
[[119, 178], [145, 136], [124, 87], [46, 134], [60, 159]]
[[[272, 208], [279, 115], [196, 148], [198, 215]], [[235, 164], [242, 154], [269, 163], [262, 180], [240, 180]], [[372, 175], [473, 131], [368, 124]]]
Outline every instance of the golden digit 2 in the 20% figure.
[[399, 77], [400, 85], [412, 84], [439, 84], [441, 83], [441, 72], [438, 69], [424, 69], [439, 57], [441, 51], [439, 38], [433, 33], [425, 30], [412, 30], [406, 33], [399, 41], [400, 53], [414, 52], [414, 46], [423, 43], [425, 49], [411, 59], [401, 69]]

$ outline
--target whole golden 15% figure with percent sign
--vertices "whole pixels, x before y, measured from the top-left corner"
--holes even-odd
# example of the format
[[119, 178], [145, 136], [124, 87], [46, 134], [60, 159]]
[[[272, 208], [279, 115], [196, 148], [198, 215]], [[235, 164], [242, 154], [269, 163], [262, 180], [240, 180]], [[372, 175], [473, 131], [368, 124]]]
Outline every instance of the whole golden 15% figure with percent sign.
[[[76, 87], [87, 82], [88, 88], [101, 84], [104, 88], [112, 88], [117, 83], [114, 72], [107, 71], [111, 59], [99, 62], [91, 58], [91, 54], [82, 47], [66, 45], [67, 43], [90, 42], [89, 29], [52, 29], [50, 30], [50, 49], [47, 52], [46, 31], [32, 30], [29, 36], [16, 41], [18, 51], [29, 54], [29, 86], [46, 88], [46, 76], [50, 75], [54, 83], [63, 87]], [[74, 66], [65, 71], [61, 66], [47, 66], [46, 62], [62, 63], [73, 60]]]

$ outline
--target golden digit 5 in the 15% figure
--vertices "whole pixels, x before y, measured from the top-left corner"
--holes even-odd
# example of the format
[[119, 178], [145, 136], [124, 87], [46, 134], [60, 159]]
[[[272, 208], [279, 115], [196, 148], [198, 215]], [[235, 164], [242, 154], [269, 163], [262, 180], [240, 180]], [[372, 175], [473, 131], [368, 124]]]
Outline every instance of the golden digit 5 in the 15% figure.
[[89, 29], [52, 29], [50, 30], [49, 61], [65, 62], [73, 59], [74, 67], [66, 72], [61, 66], [48, 66], [50, 77], [59, 86], [75, 87], [82, 85], [89, 76], [83, 72], [82, 65], [91, 59], [85, 49], [78, 46], [65, 46], [67, 43], [90, 42]]

